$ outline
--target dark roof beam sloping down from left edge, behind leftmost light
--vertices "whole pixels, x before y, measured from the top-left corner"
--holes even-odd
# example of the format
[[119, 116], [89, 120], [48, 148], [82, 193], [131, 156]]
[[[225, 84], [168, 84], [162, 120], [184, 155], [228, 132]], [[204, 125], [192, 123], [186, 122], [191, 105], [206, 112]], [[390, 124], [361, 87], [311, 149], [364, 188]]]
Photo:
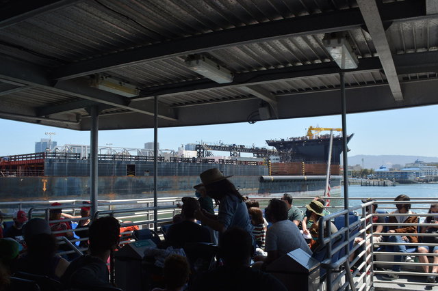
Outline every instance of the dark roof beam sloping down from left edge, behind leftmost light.
[[[15, 61], [8, 57], [0, 57], [0, 64], [2, 64], [0, 66], [1, 79], [49, 89], [52, 92], [76, 96], [112, 107], [154, 115], [153, 107], [146, 108], [141, 102], [131, 105], [129, 98], [90, 87], [84, 79], [53, 82], [47, 78], [47, 73], [38, 66]], [[158, 117], [176, 121], [173, 109], [166, 108], [164, 105], [162, 105], [162, 113], [160, 112]]]

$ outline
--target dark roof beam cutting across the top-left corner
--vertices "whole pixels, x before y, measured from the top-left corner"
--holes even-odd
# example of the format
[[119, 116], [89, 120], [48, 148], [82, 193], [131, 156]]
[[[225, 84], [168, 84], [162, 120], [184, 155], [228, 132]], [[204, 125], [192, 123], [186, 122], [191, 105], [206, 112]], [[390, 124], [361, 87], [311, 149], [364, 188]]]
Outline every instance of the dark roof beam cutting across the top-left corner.
[[82, 1], [84, 0], [10, 1], [0, 10], [0, 29]]

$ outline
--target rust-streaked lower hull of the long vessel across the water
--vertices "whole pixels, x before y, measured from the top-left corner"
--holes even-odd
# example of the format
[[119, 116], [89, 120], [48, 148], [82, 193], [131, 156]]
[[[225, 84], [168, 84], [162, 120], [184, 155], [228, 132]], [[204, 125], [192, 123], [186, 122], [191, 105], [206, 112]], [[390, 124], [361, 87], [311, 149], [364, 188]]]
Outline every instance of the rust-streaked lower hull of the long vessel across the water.
[[[293, 178], [293, 179], [292, 179]], [[280, 197], [283, 193], [294, 196], [323, 195], [325, 176], [307, 179], [293, 176], [289, 180], [263, 180], [261, 176], [233, 176], [230, 178], [242, 195], [249, 197]], [[153, 197], [153, 177], [100, 176], [99, 199], [133, 199]], [[158, 197], [194, 195], [193, 185], [200, 183], [198, 176], [159, 176]], [[3, 201], [35, 199], [88, 199], [90, 178], [72, 176], [5, 177], [0, 178]], [[332, 195], [340, 194], [340, 180], [331, 181]]]

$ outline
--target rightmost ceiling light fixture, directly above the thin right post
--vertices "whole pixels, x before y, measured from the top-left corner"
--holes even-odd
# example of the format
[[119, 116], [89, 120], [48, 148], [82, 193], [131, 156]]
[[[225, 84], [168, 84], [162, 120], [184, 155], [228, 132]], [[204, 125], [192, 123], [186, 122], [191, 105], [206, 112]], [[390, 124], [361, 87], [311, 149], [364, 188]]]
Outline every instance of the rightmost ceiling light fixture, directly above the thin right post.
[[352, 50], [347, 35], [344, 32], [326, 33], [322, 39], [322, 44], [336, 61], [337, 66], [346, 69], [355, 69], [359, 61]]

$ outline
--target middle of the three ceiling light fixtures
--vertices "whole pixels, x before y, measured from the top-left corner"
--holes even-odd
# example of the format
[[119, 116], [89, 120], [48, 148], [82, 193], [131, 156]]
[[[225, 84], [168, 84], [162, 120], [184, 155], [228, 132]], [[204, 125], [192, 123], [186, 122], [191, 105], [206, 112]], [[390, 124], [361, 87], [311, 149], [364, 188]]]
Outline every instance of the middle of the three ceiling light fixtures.
[[204, 77], [215, 81], [216, 83], [231, 83], [233, 82], [233, 74], [226, 68], [216, 64], [211, 59], [203, 55], [190, 55], [188, 59], [185, 60], [185, 65], [197, 72], [202, 74]]

